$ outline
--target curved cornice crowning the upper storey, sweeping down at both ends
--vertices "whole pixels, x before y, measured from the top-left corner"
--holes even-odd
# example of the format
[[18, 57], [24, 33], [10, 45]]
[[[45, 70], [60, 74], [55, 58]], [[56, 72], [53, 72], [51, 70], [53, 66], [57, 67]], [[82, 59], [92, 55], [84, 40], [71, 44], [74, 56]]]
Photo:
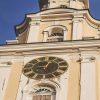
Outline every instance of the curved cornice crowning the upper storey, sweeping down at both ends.
[[94, 19], [89, 12], [89, 9], [73, 9], [73, 8], [53, 8], [45, 11], [40, 11], [33, 14], [27, 14], [24, 21], [15, 26], [16, 35], [21, 34], [25, 29], [28, 28], [30, 22], [35, 21], [54, 21], [54, 20], [72, 20], [74, 17], [85, 18], [87, 23], [93, 28], [100, 28], [100, 21]]

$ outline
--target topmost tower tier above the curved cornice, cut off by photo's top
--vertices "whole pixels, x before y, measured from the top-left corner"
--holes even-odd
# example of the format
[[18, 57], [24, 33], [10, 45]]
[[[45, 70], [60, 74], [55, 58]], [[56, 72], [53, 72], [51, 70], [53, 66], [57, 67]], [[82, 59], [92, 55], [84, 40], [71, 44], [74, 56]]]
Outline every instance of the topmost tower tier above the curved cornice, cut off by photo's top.
[[88, 0], [39, 0], [41, 10], [51, 8], [88, 9]]

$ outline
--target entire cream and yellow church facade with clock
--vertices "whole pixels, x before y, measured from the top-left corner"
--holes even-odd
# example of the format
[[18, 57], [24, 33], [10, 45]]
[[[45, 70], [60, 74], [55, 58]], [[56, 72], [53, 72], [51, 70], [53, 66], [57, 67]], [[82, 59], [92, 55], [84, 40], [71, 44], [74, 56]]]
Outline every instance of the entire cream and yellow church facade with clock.
[[0, 100], [100, 100], [100, 21], [89, 1], [38, 3], [0, 46]]

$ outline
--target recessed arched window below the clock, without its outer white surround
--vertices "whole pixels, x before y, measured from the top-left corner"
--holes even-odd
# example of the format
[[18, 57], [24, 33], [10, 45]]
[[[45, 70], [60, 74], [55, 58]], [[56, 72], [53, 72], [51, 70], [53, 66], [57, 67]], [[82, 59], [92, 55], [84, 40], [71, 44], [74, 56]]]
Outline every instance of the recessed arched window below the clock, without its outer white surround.
[[32, 100], [56, 100], [55, 87], [45, 83], [34, 86]]

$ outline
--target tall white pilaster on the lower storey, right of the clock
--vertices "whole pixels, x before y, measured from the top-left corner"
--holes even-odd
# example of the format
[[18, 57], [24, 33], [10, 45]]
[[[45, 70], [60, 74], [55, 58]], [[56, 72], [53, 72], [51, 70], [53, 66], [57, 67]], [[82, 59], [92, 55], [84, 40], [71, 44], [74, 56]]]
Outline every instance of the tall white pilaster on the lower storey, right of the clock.
[[80, 100], [96, 100], [95, 62], [84, 58], [81, 62], [81, 95]]

